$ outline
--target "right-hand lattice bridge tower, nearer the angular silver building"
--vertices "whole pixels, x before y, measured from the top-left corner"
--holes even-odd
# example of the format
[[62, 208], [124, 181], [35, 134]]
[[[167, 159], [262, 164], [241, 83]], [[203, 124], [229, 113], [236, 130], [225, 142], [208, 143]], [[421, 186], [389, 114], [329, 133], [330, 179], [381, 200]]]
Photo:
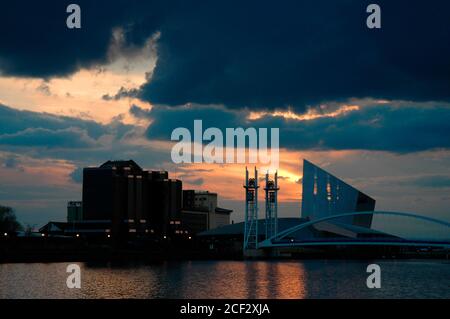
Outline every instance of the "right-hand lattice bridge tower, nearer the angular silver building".
[[274, 179], [270, 179], [266, 173], [266, 238], [271, 238], [278, 233], [278, 172]]

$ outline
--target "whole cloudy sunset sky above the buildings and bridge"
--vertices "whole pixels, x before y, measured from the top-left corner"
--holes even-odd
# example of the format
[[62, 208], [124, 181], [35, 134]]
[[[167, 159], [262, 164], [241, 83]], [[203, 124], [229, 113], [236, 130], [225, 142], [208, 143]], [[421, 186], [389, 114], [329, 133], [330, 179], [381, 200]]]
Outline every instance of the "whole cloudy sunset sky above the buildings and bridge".
[[134, 159], [240, 221], [245, 164], [171, 160], [173, 129], [201, 119], [280, 129], [280, 216], [300, 214], [306, 158], [377, 210], [450, 221], [450, 3], [376, 1], [368, 29], [371, 2], [2, 3], [0, 205], [63, 221], [83, 167]]

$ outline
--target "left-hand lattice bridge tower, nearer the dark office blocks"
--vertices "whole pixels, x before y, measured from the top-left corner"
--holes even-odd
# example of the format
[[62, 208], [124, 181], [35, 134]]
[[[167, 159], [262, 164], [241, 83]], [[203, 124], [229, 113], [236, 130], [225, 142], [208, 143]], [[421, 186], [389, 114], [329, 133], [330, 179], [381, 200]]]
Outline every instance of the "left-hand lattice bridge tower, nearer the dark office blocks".
[[249, 178], [248, 169], [245, 168], [245, 228], [244, 252], [258, 249], [258, 170], [255, 167], [255, 176]]

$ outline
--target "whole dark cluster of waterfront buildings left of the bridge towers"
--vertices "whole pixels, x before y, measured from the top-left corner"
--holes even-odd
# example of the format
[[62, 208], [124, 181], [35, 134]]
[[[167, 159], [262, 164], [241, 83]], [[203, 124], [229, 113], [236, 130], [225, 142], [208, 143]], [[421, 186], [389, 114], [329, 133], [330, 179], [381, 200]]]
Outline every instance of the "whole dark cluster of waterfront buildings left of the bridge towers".
[[67, 222], [49, 222], [45, 235], [100, 240], [192, 239], [228, 225], [232, 210], [217, 193], [182, 189], [167, 171], [148, 171], [133, 160], [107, 161], [83, 170], [83, 200], [67, 206]]

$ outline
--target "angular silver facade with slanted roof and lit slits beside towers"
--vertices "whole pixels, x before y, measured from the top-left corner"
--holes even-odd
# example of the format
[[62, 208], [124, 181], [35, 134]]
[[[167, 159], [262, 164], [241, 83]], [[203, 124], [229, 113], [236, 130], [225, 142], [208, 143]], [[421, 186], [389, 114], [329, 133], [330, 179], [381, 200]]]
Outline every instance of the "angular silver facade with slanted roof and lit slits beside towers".
[[[302, 217], [310, 220], [336, 214], [373, 211], [375, 200], [313, 163], [303, 161]], [[370, 228], [372, 215], [348, 216], [340, 222]]]

